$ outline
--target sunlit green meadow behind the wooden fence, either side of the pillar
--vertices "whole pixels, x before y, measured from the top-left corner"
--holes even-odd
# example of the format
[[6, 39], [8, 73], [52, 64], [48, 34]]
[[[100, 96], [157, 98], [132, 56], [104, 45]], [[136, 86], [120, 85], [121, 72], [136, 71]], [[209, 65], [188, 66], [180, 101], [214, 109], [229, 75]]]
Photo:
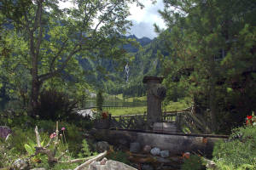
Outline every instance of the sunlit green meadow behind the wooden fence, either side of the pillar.
[[[141, 100], [144, 99], [146, 99], [146, 97], [141, 97]], [[163, 111], [178, 111], [186, 109], [189, 106], [189, 99], [180, 99], [177, 102], [169, 102], [168, 105], [163, 106]], [[108, 110], [108, 112], [111, 113], [112, 116], [143, 114], [145, 111], [147, 111], [146, 106]]]

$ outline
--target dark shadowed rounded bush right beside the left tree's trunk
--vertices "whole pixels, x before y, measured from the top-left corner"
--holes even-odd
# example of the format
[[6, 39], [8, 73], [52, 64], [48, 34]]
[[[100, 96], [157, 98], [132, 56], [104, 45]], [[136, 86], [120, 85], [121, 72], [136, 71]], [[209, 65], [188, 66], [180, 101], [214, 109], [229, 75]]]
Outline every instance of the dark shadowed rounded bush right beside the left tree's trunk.
[[72, 117], [76, 102], [70, 101], [67, 94], [54, 89], [44, 90], [40, 94], [38, 116], [44, 120], [61, 121]]

